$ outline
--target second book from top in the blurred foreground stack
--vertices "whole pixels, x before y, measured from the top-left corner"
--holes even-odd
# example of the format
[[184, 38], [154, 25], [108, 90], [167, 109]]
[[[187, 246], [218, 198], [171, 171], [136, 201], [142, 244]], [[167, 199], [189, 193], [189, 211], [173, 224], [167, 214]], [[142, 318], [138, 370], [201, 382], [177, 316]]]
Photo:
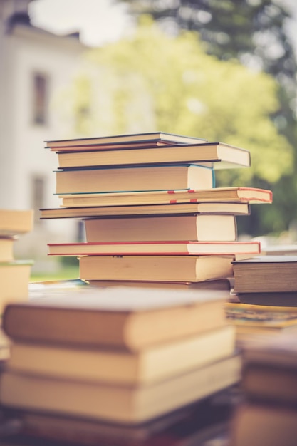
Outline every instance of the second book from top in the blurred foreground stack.
[[182, 337], [137, 352], [14, 342], [9, 369], [107, 384], [150, 384], [231, 356], [234, 345], [233, 326]]

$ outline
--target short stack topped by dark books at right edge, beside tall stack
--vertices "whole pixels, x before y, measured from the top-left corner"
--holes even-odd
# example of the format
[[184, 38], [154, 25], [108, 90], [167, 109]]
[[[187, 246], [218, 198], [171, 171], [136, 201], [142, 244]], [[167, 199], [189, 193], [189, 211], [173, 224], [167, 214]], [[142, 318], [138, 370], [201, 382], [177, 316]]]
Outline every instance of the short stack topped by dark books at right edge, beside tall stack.
[[281, 332], [297, 336], [297, 256], [264, 255], [234, 261], [234, 294], [225, 304], [238, 343]]

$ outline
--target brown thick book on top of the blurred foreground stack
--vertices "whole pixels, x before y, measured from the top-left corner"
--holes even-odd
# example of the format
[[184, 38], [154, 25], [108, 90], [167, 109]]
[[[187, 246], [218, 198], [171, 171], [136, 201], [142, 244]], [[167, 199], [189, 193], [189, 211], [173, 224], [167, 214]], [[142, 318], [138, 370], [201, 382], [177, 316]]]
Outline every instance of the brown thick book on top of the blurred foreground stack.
[[137, 351], [226, 326], [223, 304], [228, 296], [228, 290], [141, 285], [45, 286], [26, 303], [6, 306], [3, 329], [14, 341]]

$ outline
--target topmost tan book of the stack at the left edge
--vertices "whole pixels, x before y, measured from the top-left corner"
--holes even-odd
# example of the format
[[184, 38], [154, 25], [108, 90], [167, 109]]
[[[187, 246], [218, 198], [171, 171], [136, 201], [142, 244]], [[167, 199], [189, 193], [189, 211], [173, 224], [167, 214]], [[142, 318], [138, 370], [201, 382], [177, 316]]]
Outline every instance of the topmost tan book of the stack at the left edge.
[[33, 210], [0, 209], [0, 236], [17, 236], [33, 229]]

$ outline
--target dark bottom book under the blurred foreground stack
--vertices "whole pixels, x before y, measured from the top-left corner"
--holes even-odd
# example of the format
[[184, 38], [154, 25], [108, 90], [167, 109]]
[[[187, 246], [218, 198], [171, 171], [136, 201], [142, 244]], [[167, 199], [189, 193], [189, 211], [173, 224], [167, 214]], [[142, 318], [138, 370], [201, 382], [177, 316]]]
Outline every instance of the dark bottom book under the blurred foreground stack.
[[[20, 440], [27, 440], [24, 444], [29, 442], [31, 446], [36, 445], [36, 440], [39, 445], [42, 440], [43, 444], [46, 440], [58, 440], [80, 446], [207, 446], [210, 439], [226, 434], [233, 409], [230, 400], [228, 389], [137, 425], [26, 410], [9, 411], [6, 418], [14, 421], [15, 431], [19, 432], [9, 440], [21, 437]], [[46, 445], [49, 446], [48, 442]]]

